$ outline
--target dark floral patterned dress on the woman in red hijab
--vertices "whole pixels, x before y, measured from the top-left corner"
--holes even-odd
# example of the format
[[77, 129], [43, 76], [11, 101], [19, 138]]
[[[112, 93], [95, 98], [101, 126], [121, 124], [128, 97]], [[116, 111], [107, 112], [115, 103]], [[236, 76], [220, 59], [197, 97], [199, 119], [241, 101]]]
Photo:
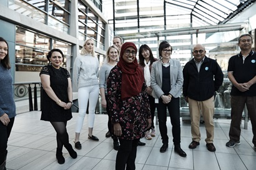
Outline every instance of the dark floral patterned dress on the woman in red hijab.
[[[125, 84], [123, 84], [125, 85]], [[135, 97], [121, 99], [122, 72], [117, 65], [112, 68], [107, 78], [107, 94], [109, 113], [112, 123], [120, 123], [122, 127], [121, 139], [132, 140], [145, 136], [147, 119], [151, 118], [149, 98], [145, 89], [145, 82], [141, 92]]]

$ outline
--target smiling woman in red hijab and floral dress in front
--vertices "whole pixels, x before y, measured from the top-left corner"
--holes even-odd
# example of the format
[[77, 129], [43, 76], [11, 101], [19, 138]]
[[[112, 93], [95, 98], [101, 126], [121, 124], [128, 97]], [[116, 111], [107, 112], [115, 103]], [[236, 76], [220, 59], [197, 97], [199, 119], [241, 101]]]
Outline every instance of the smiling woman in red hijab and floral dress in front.
[[113, 133], [120, 141], [116, 170], [135, 169], [139, 139], [151, 125], [149, 98], [145, 92], [147, 86], [136, 53], [134, 43], [124, 43], [120, 60], [107, 78], [107, 102], [114, 125]]

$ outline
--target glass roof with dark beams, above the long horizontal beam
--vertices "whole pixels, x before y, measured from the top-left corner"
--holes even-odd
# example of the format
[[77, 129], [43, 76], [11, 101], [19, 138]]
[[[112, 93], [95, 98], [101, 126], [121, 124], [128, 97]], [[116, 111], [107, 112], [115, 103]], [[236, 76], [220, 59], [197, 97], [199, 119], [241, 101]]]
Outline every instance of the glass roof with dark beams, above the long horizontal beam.
[[225, 24], [252, 2], [255, 1], [102, 0], [102, 6], [116, 34], [125, 34]]

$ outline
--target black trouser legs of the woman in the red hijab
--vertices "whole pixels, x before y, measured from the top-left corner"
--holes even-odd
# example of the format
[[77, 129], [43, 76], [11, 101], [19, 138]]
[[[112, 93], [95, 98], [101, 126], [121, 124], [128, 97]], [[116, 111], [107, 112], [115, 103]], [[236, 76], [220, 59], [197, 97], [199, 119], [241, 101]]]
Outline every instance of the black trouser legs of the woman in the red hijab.
[[120, 147], [116, 156], [116, 170], [134, 170], [139, 139], [119, 139]]

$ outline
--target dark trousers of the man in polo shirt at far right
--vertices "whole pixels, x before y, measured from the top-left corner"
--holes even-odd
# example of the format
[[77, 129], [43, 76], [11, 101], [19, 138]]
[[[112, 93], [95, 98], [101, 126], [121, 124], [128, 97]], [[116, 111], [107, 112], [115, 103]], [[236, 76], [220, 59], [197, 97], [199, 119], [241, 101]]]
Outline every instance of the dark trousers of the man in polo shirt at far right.
[[246, 104], [248, 115], [252, 123], [252, 133], [254, 137], [252, 143], [256, 146], [256, 97], [231, 96], [231, 123], [229, 130], [229, 138], [231, 141], [240, 141], [240, 122], [242, 119], [242, 112]]

